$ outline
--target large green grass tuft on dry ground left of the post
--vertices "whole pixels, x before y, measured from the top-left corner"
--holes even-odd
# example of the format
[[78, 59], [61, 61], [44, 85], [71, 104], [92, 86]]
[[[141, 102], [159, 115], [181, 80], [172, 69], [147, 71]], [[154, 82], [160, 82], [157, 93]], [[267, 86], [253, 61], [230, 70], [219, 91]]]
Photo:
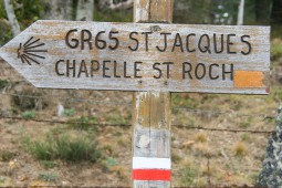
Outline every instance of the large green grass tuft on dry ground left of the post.
[[25, 138], [23, 146], [27, 152], [40, 160], [61, 159], [74, 163], [83, 160], [95, 163], [101, 157], [95, 139], [85, 135], [48, 134], [41, 140]]

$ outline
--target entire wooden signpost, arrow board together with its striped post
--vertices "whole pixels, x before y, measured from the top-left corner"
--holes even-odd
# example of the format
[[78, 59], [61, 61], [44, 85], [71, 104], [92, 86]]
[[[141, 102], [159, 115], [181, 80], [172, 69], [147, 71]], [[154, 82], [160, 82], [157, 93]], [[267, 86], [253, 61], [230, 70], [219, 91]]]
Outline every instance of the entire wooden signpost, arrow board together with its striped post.
[[136, 0], [136, 23], [36, 21], [0, 49], [35, 87], [136, 91], [133, 186], [170, 186], [170, 93], [268, 94], [270, 28], [168, 24], [173, 0]]

